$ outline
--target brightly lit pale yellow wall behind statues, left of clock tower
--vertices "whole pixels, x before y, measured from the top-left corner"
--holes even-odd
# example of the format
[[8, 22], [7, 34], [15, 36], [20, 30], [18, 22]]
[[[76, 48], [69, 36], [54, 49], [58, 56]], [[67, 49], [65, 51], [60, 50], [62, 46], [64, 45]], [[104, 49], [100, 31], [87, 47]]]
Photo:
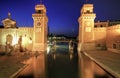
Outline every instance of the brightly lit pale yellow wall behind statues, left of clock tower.
[[[11, 37], [12, 41], [9, 40], [9, 37], [7, 41], [8, 35]], [[13, 49], [16, 51], [16, 48], [20, 46], [18, 44], [20, 36], [22, 37], [22, 43], [21, 43], [22, 47], [29, 51], [32, 51], [33, 38], [34, 38], [33, 28], [21, 27], [21, 28], [0, 29], [0, 52], [6, 52], [10, 46], [14, 47]], [[6, 44], [8, 44], [8, 46], [6, 46]]]

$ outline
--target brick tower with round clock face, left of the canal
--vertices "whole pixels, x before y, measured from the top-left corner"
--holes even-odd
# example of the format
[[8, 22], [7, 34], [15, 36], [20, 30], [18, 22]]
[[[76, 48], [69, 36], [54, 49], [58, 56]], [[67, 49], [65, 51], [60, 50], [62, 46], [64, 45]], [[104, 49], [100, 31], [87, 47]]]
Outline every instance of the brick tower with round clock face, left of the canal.
[[32, 14], [34, 20], [33, 51], [46, 51], [47, 48], [47, 22], [46, 8], [43, 4], [35, 6], [36, 13]]

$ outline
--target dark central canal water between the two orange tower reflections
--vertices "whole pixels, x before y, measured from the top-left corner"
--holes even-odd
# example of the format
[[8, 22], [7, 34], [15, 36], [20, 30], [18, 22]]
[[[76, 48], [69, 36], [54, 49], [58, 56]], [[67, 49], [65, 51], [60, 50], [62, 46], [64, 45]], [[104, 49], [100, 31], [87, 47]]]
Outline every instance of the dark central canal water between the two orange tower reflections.
[[78, 55], [70, 53], [68, 46], [58, 45], [47, 57], [48, 78], [78, 78]]

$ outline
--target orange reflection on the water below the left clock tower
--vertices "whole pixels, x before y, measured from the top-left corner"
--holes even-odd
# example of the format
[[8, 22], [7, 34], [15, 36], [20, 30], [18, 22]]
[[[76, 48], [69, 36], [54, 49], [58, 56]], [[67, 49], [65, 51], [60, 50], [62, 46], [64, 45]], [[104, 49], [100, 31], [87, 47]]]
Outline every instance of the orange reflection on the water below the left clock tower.
[[15, 78], [46, 78], [45, 54], [40, 53], [30, 60], [30, 64]]

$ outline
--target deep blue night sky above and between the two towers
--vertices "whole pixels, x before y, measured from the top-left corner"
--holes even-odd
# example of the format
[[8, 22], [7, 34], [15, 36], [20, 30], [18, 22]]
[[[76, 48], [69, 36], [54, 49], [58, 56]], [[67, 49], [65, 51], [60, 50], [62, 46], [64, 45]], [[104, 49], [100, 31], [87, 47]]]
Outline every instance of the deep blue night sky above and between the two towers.
[[[78, 17], [86, 0], [43, 0], [48, 26], [53, 34], [77, 36]], [[0, 21], [11, 13], [18, 26], [33, 26], [32, 14], [40, 0], [0, 0]], [[96, 20], [120, 20], [120, 0], [88, 0], [94, 4]], [[1, 24], [1, 22], [0, 22]]]

